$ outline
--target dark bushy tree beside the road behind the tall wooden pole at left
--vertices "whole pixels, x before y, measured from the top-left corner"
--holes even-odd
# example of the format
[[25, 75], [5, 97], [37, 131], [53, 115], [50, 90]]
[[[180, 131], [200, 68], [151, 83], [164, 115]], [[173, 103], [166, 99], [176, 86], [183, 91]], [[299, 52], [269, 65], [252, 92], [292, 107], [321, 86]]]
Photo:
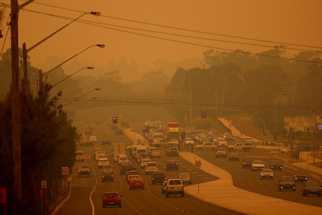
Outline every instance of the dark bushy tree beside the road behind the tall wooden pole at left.
[[40, 180], [48, 180], [51, 184], [53, 179], [61, 178], [62, 165], [73, 165], [78, 135], [61, 106], [56, 105], [57, 96], [50, 99], [50, 89], [46, 83], [37, 96], [32, 92], [28, 97], [24, 92], [20, 93], [23, 202], [19, 207], [11, 182], [11, 93], [0, 102], [0, 186], [7, 187], [8, 214], [39, 214]]

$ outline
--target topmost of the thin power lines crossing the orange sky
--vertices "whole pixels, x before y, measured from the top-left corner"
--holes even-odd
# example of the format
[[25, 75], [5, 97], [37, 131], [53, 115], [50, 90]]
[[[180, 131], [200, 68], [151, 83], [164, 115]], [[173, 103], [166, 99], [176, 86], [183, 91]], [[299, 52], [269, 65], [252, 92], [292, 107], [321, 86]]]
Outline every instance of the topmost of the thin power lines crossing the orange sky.
[[[75, 10], [75, 9], [71, 9], [71, 8], [67, 8], [67, 7], [60, 7], [60, 6], [55, 6], [55, 5], [46, 4], [46, 3], [40, 3], [40, 2], [33, 2], [33, 3], [41, 4], [41, 5], [45, 5], [45, 6], [50, 6], [50, 7], [55, 7], [55, 8], [59, 8], [59, 9], [65, 9], [65, 10], [74, 11], [74, 12], [85, 13], [85, 11]], [[295, 44], [295, 43], [285, 43], [285, 42], [280, 42], [280, 41], [262, 40], [262, 39], [255, 39], [255, 38], [249, 38], [249, 37], [240, 37], [240, 36], [233, 36], [233, 35], [227, 35], [227, 34], [219, 34], [219, 33], [207, 32], [207, 31], [198, 31], [198, 30], [194, 30], [194, 29], [179, 28], [179, 27], [173, 27], [173, 26], [168, 26], [168, 25], [161, 25], [161, 24], [155, 24], [155, 23], [150, 23], [150, 22], [137, 21], [137, 20], [133, 20], [133, 19], [125, 19], [125, 18], [120, 18], [120, 17], [115, 17], [115, 16], [107, 16], [107, 15], [101, 15], [101, 16], [111, 18], [111, 19], [118, 19], [118, 20], [122, 20], [122, 21], [129, 21], [129, 22], [135, 22], [135, 23], [140, 23], [140, 24], [147, 24], [147, 25], [152, 25], [152, 26], [171, 28], [171, 29], [176, 29], [176, 30], [190, 31], [190, 32], [195, 32], [195, 33], [210, 34], [210, 35], [215, 35], [215, 36], [222, 36], [222, 37], [230, 37], [230, 38], [243, 39], [243, 40], [253, 40], [253, 41], [258, 41], [258, 42], [267, 42], [267, 43], [274, 43], [274, 44], [285, 44], [285, 45], [291, 45], [291, 46], [302, 46], [302, 47], [308, 47], [308, 48], [322, 49], [322, 47], [319, 47], [319, 46], [309, 46], [309, 45], [301, 45], [301, 44]]]

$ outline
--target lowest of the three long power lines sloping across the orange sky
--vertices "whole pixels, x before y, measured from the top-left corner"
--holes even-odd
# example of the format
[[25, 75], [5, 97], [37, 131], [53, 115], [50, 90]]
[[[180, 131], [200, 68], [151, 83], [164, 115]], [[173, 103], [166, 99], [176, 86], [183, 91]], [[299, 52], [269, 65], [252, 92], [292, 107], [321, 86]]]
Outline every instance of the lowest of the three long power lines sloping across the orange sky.
[[[54, 16], [54, 17], [57, 17], [57, 18], [67, 19], [67, 20], [73, 20], [74, 19], [72, 17], [59, 16], [59, 15], [39, 12], [39, 11], [35, 11], [35, 10], [29, 10], [29, 9], [23, 9], [23, 10], [26, 10], [26, 11], [29, 11], [29, 12], [36, 12], [36, 13], [40, 13], [40, 14], [44, 14], [44, 15], [50, 15], [50, 16]], [[292, 59], [292, 58], [285, 58], [285, 57], [279, 57], [279, 56], [271, 56], [271, 55], [265, 55], [265, 54], [260, 54], [260, 53], [245, 52], [245, 51], [241, 51], [241, 50], [233, 50], [233, 49], [220, 48], [220, 47], [215, 47], [215, 46], [209, 46], [209, 45], [202, 45], [202, 44], [197, 44], [197, 43], [185, 42], [185, 41], [181, 41], [181, 40], [168, 39], [168, 38], [164, 38], [164, 37], [153, 36], [153, 35], [148, 35], [148, 34], [142, 34], [142, 33], [137, 33], [137, 32], [132, 32], [132, 31], [121, 30], [121, 29], [117, 29], [117, 28], [111, 28], [111, 27], [107, 27], [107, 26], [102, 26], [102, 25], [98, 25], [98, 24], [93, 24], [90, 21], [76, 20], [76, 22], [80, 22], [80, 23], [88, 24], [88, 25], [92, 25], [92, 26], [97, 26], [97, 27], [101, 27], [101, 28], [106, 28], [106, 29], [110, 29], [110, 30], [115, 30], [115, 31], [120, 31], [120, 32], [125, 32], [125, 33], [130, 33], [130, 34], [150, 37], [150, 38], [156, 38], [156, 39], [161, 39], [161, 40], [167, 40], [167, 41], [172, 41], [172, 42], [177, 42], [177, 43], [183, 43], [183, 44], [188, 44], [188, 45], [194, 45], [194, 46], [199, 46], [199, 47], [213, 48], [213, 49], [224, 50], [224, 51], [229, 51], [229, 52], [239, 52], [239, 53], [243, 53], [243, 54], [247, 54], [247, 55], [256, 55], [256, 56], [262, 56], [262, 57], [268, 57], [268, 58], [276, 58], [276, 59], [289, 60], [289, 61], [299, 61], [299, 62], [306, 62], [306, 63], [322, 64], [322, 62], [317, 62], [317, 61], [309, 61], [309, 60]]]

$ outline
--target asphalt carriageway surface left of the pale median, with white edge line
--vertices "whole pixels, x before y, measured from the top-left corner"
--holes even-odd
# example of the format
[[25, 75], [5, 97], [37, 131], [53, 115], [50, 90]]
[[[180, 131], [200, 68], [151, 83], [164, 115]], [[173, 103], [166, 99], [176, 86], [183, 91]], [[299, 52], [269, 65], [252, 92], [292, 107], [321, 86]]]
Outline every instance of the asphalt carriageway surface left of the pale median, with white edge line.
[[[82, 125], [79, 125], [79, 131], [83, 132]], [[144, 171], [140, 170], [143, 178], [145, 179], [145, 190], [129, 190], [129, 187], [125, 181], [124, 175], [119, 175], [118, 166], [111, 162], [114, 168], [115, 177], [114, 182], [102, 183], [101, 174], [102, 170], [98, 169], [98, 165], [95, 159], [92, 157], [94, 147], [102, 147], [100, 140], [103, 138], [110, 138], [112, 143], [126, 143], [131, 145], [132, 143], [125, 136], [115, 136], [113, 131], [109, 129], [107, 124], [100, 124], [93, 126], [93, 135], [98, 136], [99, 141], [95, 143], [93, 147], [78, 147], [77, 150], [83, 151], [85, 155], [90, 155], [90, 159], [86, 159], [84, 163], [88, 163], [92, 166], [91, 177], [78, 178], [76, 163], [72, 169], [72, 190], [71, 199], [68, 203], [59, 211], [60, 215], [103, 215], [103, 214], [142, 214], [142, 215], [179, 215], [179, 214], [213, 214], [213, 215], [239, 215], [240, 213], [230, 211], [224, 208], [217, 207], [213, 204], [198, 200], [189, 195], [185, 197], [170, 196], [165, 198], [164, 194], [161, 194], [161, 185], [152, 185], [151, 176], [145, 175]], [[107, 154], [110, 154], [111, 147], [105, 146]], [[209, 175], [203, 171], [197, 175], [196, 167], [191, 163], [185, 161], [180, 157], [176, 157], [179, 161], [179, 170], [166, 171], [166, 161], [170, 158], [164, 155], [164, 150], [160, 159], [154, 159], [158, 162], [161, 170], [165, 172], [168, 178], [174, 178], [179, 172], [189, 172], [193, 177], [192, 182], [197, 183], [198, 176], [200, 183], [210, 180], [216, 180], [212, 175]], [[110, 157], [111, 158], [111, 157]], [[130, 156], [129, 156], [130, 158]], [[112, 161], [112, 159], [110, 159]], [[132, 160], [132, 163], [139, 169], [139, 165]], [[103, 208], [101, 196], [106, 191], [117, 191], [122, 194], [122, 207]]]

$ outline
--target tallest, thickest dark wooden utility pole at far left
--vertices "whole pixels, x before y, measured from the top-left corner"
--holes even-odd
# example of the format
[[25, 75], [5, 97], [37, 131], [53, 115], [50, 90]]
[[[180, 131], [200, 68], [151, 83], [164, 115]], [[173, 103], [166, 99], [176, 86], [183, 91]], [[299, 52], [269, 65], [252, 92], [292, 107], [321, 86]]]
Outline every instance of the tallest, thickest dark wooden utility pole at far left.
[[19, 99], [19, 53], [18, 53], [18, 0], [11, 0], [11, 75], [12, 75], [12, 161], [13, 189], [16, 199], [20, 202], [21, 195], [21, 129]]

